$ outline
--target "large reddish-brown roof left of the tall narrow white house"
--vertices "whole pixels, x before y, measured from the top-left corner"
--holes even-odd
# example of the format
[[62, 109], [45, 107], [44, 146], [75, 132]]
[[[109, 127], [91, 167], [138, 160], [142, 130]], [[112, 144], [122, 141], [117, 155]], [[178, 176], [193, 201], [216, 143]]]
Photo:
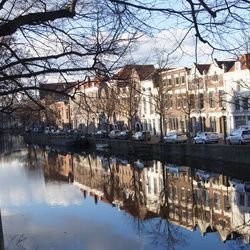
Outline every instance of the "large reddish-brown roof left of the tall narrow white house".
[[155, 71], [154, 65], [137, 65], [128, 64], [125, 65], [117, 74], [114, 75], [115, 80], [129, 80], [131, 78], [132, 72], [135, 70], [141, 81], [149, 79]]

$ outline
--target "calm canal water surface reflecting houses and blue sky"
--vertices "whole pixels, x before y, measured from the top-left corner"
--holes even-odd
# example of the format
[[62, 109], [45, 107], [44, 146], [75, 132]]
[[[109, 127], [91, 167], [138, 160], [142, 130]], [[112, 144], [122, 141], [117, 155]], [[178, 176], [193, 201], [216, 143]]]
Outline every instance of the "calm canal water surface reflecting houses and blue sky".
[[0, 143], [0, 250], [250, 249], [248, 176]]

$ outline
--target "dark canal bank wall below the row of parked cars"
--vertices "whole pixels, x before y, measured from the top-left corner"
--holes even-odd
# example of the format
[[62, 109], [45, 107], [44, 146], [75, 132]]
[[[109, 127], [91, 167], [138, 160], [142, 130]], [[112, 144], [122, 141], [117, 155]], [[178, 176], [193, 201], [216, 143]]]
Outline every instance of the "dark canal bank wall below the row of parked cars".
[[138, 141], [88, 139], [91, 146], [108, 144], [117, 154], [149, 156], [155, 160], [166, 161], [171, 158], [198, 159], [204, 161], [223, 161], [235, 164], [250, 164], [250, 146], [222, 144], [163, 144]]

